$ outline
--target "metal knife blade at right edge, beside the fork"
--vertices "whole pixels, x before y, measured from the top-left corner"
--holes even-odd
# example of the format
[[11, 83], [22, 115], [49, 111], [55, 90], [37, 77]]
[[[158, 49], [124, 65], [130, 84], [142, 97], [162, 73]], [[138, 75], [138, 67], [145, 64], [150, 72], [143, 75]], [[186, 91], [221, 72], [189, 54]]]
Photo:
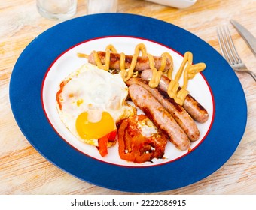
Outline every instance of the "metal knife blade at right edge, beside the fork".
[[236, 28], [236, 31], [239, 32], [241, 37], [245, 40], [245, 42], [250, 47], [253, 54], [256, 56], [256, 38], [241, 24], [237, 23], [236, 20], [230, 20], [230, 23]]

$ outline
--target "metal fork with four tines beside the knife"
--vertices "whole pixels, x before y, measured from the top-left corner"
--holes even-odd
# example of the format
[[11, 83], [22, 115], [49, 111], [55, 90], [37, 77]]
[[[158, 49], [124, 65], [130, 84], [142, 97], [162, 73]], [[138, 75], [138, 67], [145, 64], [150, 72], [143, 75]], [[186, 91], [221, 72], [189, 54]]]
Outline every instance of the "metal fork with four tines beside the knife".
[[234, 71], [248, 73], [253, 77], [256, 82], [256, 74], [252, 71], [248, 70], [245, 64], [242, 62], [241, 58], [239, 57], [236, 48], [233, 44], [233, 40], [230, 35], [230, 30], [227, 26], [222, 26], [217, 28], [217, 35], [218, 35], [218, 43], [221, 48], [222, 56], [227, 60], [230, 64], [231, 68]]

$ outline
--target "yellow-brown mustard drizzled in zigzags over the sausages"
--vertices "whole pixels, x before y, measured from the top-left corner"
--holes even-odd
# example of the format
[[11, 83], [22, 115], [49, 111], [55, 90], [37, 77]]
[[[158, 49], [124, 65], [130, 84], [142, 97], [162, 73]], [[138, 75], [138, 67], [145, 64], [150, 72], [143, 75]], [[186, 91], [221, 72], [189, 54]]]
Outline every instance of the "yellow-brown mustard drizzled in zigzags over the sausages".
[[[93, 50], [93, 58], [94, 61], [96, 62], [96, 65], [105, 70], [109, 70], [109, 65], [110, 65], [110, 53], [114, 52], [117, 53], [117, 49], [114, 48], [113, 45], [108, 45], [105, 49], [105, 65], [102, 65], [102, 62], [99, 58], [99, 55], [96, 51]], [[167, 93], [169, 97], [173, 98], [176, 103], [183, 105], [184, 100], [189, 93], [187, 91], [187, 84], [188, 80], [191, 80], [194, 78], [194, 76], [199, 73], [200, 71], [203, 71], [206, 68], [206, 64], [204, 63], [198, 63], [196, 65], [193, 65], [193, 54], [191, 52], [186, 52], [184, 54], [183, 61], [181, 63], [180, 68], [178, 69], [178, 72], [175, 74], [175, 78], [172, 79], [172, 71], [173, 71], [173, 61], [172, 61], [172, 56], [168, 52], [164, 52], [161, 55], [161, 65], [160, 68], [157, 71], [157, 68], [155, 68], [154, 65], [154, 57], [151, 54], [148, 54], [147, 49], [143, 43], [139, 43], [136, 46], [136, 49], [134, 50], [132, 62], [130, 64], [130, 68], [126, 69], [125, 68], [125, 54], [123, 52], [120, 53], [120, 74], [123, 78], [123, 81], [126, 82], [129, 80], [131, 77], [133, 77], [134, 74], [134, 69], [136, 67], [137, 59], [139, 55], [142, 54], [142, 56], [147, 56], [148, 57], [148, 62], [149, 66], [152, 71], [152, 77], [151, 80], [148, 83], [148, 86], [151, 88], [156, 88], [159, 83], [160, 83], [160, 78], [163, 75], [163, 73], [167, 74], [167, 77], [171, 80], [169, 83], [169, 86], [167, 88]], [[89, 55], [78, 53], [78, 57], [81, 58], [89, 58]], [[164, 71], [166, 68], [166, 62], [167, 58], [171, 62], [170, 68], [167, 71]], [[183, 86], [181, 86], [181, 89], [178, 90], [179, 88], [179, 80], [181, 79], [181, 75], [183, 75]]]

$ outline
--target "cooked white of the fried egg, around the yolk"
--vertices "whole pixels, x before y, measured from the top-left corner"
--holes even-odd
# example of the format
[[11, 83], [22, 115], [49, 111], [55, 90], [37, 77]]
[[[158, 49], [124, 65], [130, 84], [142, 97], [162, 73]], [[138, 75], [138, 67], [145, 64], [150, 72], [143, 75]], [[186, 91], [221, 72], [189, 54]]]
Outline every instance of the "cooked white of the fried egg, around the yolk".
[[81, 113], [90, 113], [89, 120], [95, 122], [105, 111], [115, 123], [136, 114], [134, 107], [126, 103], [128, 87], [120, 74], [110, 74], [95, 65], [84, 64], [63, 81], [66, 85], [59, 95], [61, 109], [57, 104], [59, 118], [81, 142], [98, 146], [98, 139], [82, 139], [78, 135], [75, 121]]

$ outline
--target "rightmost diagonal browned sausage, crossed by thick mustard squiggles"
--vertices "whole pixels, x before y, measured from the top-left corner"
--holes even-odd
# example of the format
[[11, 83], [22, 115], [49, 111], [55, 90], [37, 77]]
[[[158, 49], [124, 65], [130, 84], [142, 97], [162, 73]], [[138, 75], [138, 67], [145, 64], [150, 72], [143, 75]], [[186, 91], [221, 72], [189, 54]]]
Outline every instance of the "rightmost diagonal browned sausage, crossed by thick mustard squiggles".
[[[151, 80], [152, 77], [152, 71], [151, 69], [147, 69], [145, 71], [142, 71], [142, 80], [148, 81]], [[161, 89], [163, 92], [167, 92], [170, 79], [166, 77], [165, 75], [162, 75], [159, 83], [159, 89]], [[185, 98], [184, 104], [183, 104], [184, 110], [187, 111], [187, 113], [190, 114], [192, 118], [194, 118], [195, 121], [198, 121], [200, 123], [206, 122], [209, 118], [209, 114], [207, 113], [206, 109], [191, 95], [187, 95]]]

